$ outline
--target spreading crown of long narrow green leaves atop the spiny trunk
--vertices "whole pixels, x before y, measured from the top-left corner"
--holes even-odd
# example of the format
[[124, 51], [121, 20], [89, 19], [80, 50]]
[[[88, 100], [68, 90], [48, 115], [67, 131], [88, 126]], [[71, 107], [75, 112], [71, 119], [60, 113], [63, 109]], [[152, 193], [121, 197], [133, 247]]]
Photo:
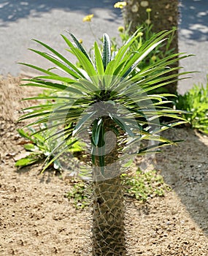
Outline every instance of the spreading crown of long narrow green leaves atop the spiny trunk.
[[[52, 134], [50, 133], [50, 139], [64, 139], [53, 148], [51, 154], [54, 154], [58, 148], [59, 153], [48, 165], [77, 140], [80, 138], [83, 140], [82, 134], [85, 133], [89, 138], [88, 146], [92, 163], [102, 167], [102, 172], [106, 165], [107, 138], [105, 135], [107, 132], [114, 132], [117, 138], [131, 138], [128, 143], [120, 143], [120, 147], [123, 148], [138, 145], [136, 143], [140, 140], [157, 142], [138, 150], [128, 151], [129, 154], [131, 152], [131, 157], [173, 143], [158, 134], [165, 129], [184, 123], [185, 119], [180, 116], [181, 110], [173, 110], [167, 106], [171, 102], [167, 97], [174, 95], [155, 94], [154, 90], [178, 80], [178, 74], [172, 75], [172, 70], [180, 67], [171, 68], [170, 66], [186, 56], [180, 56], [180, 53], [173, 54], [139, 69], [139, 63], [151, 50], [160, 45], [169, 33], [172, 31], [162, 31], [143, 45], [139, 45], [136, 51], [131, 51], [131, 46], [139, 37], [138, 30], [118, 52], [112, 52], [109, 36], [104, 34], [102, 50], [97, 42], [94, 43], [93, 59], [73, 34], [70, 35], [74, 42], [62, 35], [68, 46], [67, 50], [77, 58], [80, 66], [72, 64], [72, 61], [50, 48], [49, 45], [35, 40], [50, 53], [30, 50], [52, 62], [55, 67], [43, 69], [32, 64], [24, 64], [42, 72], [43, 75], [27, 80], [28, 83], [23, 86], [53, 89], [55, 96], [27, 98], [47, 99], [47, 102], [25, 109], [32, 111], [24, 114], [20, 120], [36, 118], [29, 125], [45, 124], [50, 121], [50, 126], [44, 128], [53, 131]], [[55, 70], [61, 70], [63, 75], [59, 75], [60, 72]], [[180, 73], [180, 75], [185, 74], [186, 72]], [[51, 102], [50, 99], [55, 99], [55, 102]], [[164, 116], [174, 121], [161, 125], [159, 118]], [[54, 132], [55, 127], [59, 128]], [[118, 141], [116, 143], [118, 144]], [[105, 149], [103, 149], [104, 146]]]

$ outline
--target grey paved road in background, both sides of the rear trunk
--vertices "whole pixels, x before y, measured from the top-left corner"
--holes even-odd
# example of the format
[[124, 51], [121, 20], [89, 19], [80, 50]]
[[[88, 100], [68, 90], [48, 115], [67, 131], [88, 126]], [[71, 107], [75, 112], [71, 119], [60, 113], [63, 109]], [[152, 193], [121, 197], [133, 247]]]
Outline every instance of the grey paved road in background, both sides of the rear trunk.
[[[72, 31], [83, 40], [87, 49], [94, 41], [89, 23], [82, 18], [94, 14], [91, 27], [97, 39], [104, 32], [111, 37], [118, 36], [118, 26], [123, 25], [120, 10], [115, 10], [116, 0], [0, 0], [0, 75], [19, 75], [28, 69], [18, 61], [40, 64], [46, 62], [37, 58], [27, 48], [38, 48], [31, 38], [40, 39], [65, 53], [60, 34]], [[193, 83], [205, 83], [208, 73], [208, 1], [182, 0], [180, 21], [180, 51], [196, 56], [182, 61], [185, 70], [199, 70], [193, 80], [180, 82], [182, 93]]]

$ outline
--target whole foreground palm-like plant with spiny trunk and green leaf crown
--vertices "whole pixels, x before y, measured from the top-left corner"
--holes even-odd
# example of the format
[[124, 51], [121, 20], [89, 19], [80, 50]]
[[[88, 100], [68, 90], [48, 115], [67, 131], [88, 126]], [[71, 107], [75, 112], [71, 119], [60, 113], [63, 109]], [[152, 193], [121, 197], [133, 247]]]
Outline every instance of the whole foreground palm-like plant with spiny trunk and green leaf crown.
[[[178, 75], [169, 75], [173, 70], [169, 65], [186, 56], [166, 56], [139, 69], [139, 63], [170, 33], [172, 31], [161, 31], [131, 51], [131, 45], [139, 37], [139, 31], [136, 31], [118, 52], [111, 51], [109, 36], [104, 34], [102, 50], [97, 42], [94, 43], [94, 59], [73, 34], [70, 34], [72, 42], [62, 35], [67, 50], [77, 58], [82, 69], [49, 45], [35, 40], [49, 53], [31, 50], [55, 67], [44, 69], [24, 64], [43, 74], [29, 79], [23, 86], [55, 90], [55, 97], [28, 98], [47, 99], [47, 104], [34, 105], [32, 112], [20, 118], [35, 118], [29, 124], [32, 126], [47, 124], [48, 140], [58, 141], [51, 153], [53, 160], [47, 166], [77, 140], [85, 144], [88, 157], [80, 166], [80, 176], [91, 178], [93, 187], [93, 255], [127, 254], [120, 174], [126, 171], [137, 154], [154, 152], [174, 143], [159, 133], [185, 122], [180, 116], [181, 110], [167, 107], [167, 97], [172, 95], [151, 92], [178, 79]], [[55, 99], [55, 102], [48, 102], [49, 99]], [[160, 124], [162, 116], [172, 118], [172, 123]], [[72, 143], [66, 143], [68, 140]], [[142, 140], [147, 141], [143, 148], [139, 146]]]

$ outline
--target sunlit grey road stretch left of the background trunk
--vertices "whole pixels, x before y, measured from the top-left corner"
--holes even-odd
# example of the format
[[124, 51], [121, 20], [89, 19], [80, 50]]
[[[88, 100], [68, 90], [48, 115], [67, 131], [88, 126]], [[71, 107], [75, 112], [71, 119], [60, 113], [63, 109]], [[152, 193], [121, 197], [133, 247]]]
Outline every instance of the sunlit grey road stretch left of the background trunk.
[[120, 10], [113, 8], [113, 0], [0, 0], [0, 75], [18, 75], [26, 71], [17, 61], [43, 64], [42, 58], [33, 55], [27, 48], [38, 48], [32, 38], [50, 44], [67, 54], [66, 44], [60, 34], [71, 31], [83, 40], [86, 48], [95, 40], [89, 23], [82, 18], [94, 14], [91, 27], [99, 39], [106, 31], [111, 36], [118, 34], [122, 23]]

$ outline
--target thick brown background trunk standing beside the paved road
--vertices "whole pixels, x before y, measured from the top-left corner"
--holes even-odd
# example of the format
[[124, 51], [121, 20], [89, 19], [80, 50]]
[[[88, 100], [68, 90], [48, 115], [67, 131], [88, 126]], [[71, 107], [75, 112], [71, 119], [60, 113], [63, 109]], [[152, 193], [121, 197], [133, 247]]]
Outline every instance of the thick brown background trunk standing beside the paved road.
[[[150, 8], [150, 24], [153, 24], [153, 32], [177, 28], [178, 4], [178, 0], [127, 0], [127, 5], [123, 12], [124, 23], [126, 26], [131, 25], [131, 32], [136, 31], [137, 26], [149, 22], [147, 8]], [[169, 49], [173, 49], [172, 53], [178, 53], [177, 31], [174, 32], [174, 38], [172, 39]], [[162, 48], [161, 50], [164, 49]], [[177, 66], [178, 63], [175, 63], [174, 67]], [[175, 93], [177, 91], [177, 83], [166, 86], [166, 89], [170, 93]]]

